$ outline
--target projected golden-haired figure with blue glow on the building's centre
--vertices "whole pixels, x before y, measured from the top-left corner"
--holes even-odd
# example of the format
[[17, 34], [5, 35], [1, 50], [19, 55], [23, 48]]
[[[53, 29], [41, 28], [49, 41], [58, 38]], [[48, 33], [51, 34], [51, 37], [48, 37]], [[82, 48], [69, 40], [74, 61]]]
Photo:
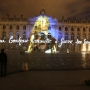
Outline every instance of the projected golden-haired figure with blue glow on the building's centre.
[[[51, 35], [54, 42], [55, 40], [58, 40], [58, 30], [57, 28], [55, 28], [55, 24], [57, 20], [53, 20], [52, 18], [47, 17], [45, 15], [40, 15], [32, 20], [35, 21], [35, 23], [30, 32], [30, 44], [29, 44], [28, 52], [32, 52], [33, 51], [32, 48], [35, 48], [36, 46], [38, 49], [43, 49], [43, 50], [46, 49], [47, 43], [44, 43], [43, 45], [40, 43], [33, 43], [34, 40], [42, 39], [42, 36], [45, 36], [43, 38], [44, 40], [48, 38], [48, 35]], [[54, 26], [54, 28], [52, 28], [52, 26]], [[51, 49], [52, 52], [56, 52], [55, 43], [53, 43]]]

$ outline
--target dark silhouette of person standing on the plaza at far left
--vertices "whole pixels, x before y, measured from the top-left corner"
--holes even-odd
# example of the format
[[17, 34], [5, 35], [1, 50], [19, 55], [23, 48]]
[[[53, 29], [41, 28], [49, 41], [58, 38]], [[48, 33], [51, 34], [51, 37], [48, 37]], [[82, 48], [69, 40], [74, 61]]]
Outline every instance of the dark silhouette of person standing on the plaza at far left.
[[1, 76], [6, 76], [7, 75], [7, 55], [6, 53], [4, 53], [4, 49], [1, 49], [0, 61], [1, 61]]

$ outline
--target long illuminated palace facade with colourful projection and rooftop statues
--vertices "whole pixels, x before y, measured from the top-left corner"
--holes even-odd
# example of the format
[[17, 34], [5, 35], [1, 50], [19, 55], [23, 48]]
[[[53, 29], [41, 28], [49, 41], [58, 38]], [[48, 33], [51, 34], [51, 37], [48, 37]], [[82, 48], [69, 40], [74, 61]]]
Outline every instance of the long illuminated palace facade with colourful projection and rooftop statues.
[[[19, 43], [10, 43], [10, 37], [14, 40], [20, 37], [23, 40], [29, 40]], [[86, 43], [84, 40], [86, 39]], [[40, 11], [39, 16], [34, 18], [0, 18], [0, 49], [5, 48], [7, 51], [24, 50], [32, 51], [47, 51], [51, 52], [82, 52], [90, 51], [90, 23], [87, 21], [71, 21], [70, 19], [61, 21], [56, 18], [46, 16], [44, 9]], [[51, 41], [50, 41], [51, 40]], [[63, 43], [61, 46], [61, 40]], [[45, 41], [45, 42], [44, 42]], [[49, 43], [50, 41], [50, 43]], [[70, 43], [70, 41], [73, 41]], [[69, 43], [65, 43], [69, 42]], [[83, 44], [84, 43], [84, 44]]]

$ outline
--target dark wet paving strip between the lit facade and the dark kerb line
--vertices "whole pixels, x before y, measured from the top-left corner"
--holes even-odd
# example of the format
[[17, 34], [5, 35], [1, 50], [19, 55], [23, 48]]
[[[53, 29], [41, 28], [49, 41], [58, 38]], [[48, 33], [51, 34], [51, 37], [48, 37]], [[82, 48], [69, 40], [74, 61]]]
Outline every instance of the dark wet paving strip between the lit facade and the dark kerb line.
[[8, 54], [8, 72], [22, 70], [27, 63], [29, 70], [90, 69], [90, 54]]

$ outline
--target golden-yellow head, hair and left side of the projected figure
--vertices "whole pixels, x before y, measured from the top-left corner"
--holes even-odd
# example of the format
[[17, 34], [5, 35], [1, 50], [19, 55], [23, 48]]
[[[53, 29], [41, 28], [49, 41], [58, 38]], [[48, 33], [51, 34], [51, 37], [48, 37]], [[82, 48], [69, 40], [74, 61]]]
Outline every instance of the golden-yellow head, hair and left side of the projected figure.
[[[35, 40], [35, 34], [37, 34], [37, 36], [38, 36], [37, 40], [40, 40], [41, 39], [41, 36], [40, 36], [41, 33], [44, 33], [44, 35], [48, 34], [48, 27], [49, 27], [49, 20], [46, 16], [40, 16], [36, 20], [34, 27], [32, 28], [31, 33], [30, 33], [31, 35], [30, 35], [30, 44], [28, 47], [28, 52], [32, 52], [33, 48], [36, 46], [38, 48], [41, 47], [39, 43], [38, 44], [33, 43], [33, 41]], [[44, 47], [44, 49], [45, 49], [45, 47]]]

